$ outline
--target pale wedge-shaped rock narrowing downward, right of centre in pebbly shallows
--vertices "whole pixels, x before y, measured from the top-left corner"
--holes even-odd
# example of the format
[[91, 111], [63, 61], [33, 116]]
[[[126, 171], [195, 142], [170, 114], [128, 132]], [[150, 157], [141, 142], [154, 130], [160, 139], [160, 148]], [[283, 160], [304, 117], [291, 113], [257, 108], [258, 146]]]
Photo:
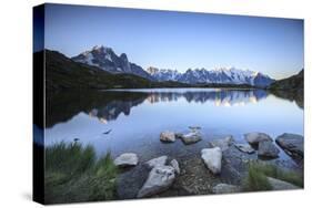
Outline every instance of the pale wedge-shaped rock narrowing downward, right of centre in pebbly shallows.
[[201, 158], [203, 159], [208, 169], [210, 169], [213, 174], [221, 173], [222, 150], [220, 147], [202, 149]]

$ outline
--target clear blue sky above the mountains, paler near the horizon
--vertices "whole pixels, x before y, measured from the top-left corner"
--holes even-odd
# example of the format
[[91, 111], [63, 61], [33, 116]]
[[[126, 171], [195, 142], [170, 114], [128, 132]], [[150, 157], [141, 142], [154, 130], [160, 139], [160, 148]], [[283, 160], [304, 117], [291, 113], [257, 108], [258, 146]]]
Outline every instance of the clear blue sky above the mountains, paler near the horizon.
[[143, 69], [234, 66], [283, 79], [303, 67], [299, 19], [47, 4], [44, 25], [44, 48], [67, 56], [104, 45]]

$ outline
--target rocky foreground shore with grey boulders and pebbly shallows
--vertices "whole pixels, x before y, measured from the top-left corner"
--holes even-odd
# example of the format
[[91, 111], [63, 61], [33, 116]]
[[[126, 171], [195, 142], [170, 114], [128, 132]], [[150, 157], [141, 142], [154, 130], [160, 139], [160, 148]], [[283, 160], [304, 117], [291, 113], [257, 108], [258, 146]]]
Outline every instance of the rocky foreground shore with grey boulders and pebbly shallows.
[[[189, 133], [165, 131], [160, 134], [160, 142], [164, 144], [178, 143], [192, 145], [202, 141], [199, 126], [190, 126]], [[244, 191], [243, 183], [249, 175], [251, 163], [270, 164], [275, 167], [290, 169], [279, 159], [281, 150], [288, 154], [298, 164], [294, 169], [303, 175], [303, 137], [294, 134], [282, 134], [273, 139], [265, 133], [244, 134], [245, 143], [236, 143], [233, 136], [212, 139], [205, 144], [195, 156], [173, 158], [167, 155], [141, 162], [134, 153], [124, 153], [114, 159], [114, 164], [122, 168], [127, 177], [128, 169], [134, 187], [129, 195], [120, 198], [169, 197], [207, 194], [229, 194]], [[280, 148], [279, 148], [280, 147]], [[135, 169], [140, 164], [143, 168]], [[293, 170], [293, 169], [292, 169]], [[133, 184], [135, 183], [135, 186]], [[291, 183], [268, 177], [273, 190], [300, 188]], [[124, 197], [128, 196], [128, 197]]]

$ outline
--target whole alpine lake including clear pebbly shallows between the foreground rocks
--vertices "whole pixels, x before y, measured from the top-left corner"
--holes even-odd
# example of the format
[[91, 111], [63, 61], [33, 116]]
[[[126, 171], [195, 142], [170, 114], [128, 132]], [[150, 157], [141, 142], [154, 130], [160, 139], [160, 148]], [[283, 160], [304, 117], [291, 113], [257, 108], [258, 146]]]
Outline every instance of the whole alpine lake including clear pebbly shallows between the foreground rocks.
[[[164, 131], [187, 134], [199, 128], [202, 139], [185, 145], [177, 139], [162, 143]], [[135, 198], [149, 171], [144, 162], [167, 155], [179, 162], [181, 174], [174, 185], [158, 196], [208, 194], [219, 183], [239, 184], [249, 159], [236, 148], [227, 153], [222, 173], [214, 176], [201, 160], [201, 149], [227, 136], [246, 143], [244, 134], [260, 132], [275, 139], [284, 133], [303, 135], [303, 102], [286, 94], [241, 89], [142, 89], [61, 92], [47, 98], [44, 145], [79, 142], [92, 145], [100, 157], [115, 158], [135, 153], [139, 164], [118, 177], [120, 199]], [[283, 149], [278, 158], [263, 159], [302, 171]]]

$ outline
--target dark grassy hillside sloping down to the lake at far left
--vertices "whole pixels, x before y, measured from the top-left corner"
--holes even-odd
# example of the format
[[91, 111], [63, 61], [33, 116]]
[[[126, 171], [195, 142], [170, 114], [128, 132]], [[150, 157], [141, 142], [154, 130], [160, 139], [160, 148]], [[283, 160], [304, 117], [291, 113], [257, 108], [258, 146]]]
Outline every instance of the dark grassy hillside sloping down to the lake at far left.
[[[43, 70], [37, 64], [40, 53], [34, 53], [36, 70]], [[48, 92], [64, 89], [123, 89], [149, 87], [150, 82], [132, 74], [111, 74], [98, 67], [73, 62], [57, 51], [44, 50], [46, 86]], [[42, 55], [42, 54], [41, 54]]]

